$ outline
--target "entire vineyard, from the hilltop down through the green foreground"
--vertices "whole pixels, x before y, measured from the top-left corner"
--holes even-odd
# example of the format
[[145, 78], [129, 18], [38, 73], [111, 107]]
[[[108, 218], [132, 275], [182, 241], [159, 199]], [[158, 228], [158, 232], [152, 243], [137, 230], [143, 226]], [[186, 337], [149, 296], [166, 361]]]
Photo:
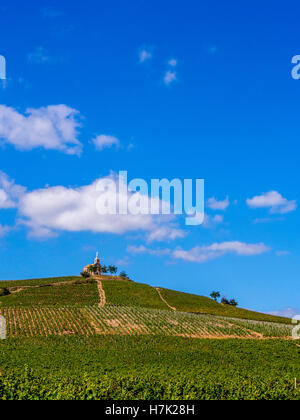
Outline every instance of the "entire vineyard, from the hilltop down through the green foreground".
[[0, 399], [300, 397], [285, 318], [110, 276], [1, 287]]

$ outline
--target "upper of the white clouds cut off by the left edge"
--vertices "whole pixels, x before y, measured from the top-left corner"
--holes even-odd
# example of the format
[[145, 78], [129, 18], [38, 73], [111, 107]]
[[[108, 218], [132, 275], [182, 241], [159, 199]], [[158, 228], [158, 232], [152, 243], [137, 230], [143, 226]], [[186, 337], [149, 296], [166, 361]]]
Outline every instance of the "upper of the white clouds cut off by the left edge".
[[0, 105], [0, 140], [18, 150], [43, 147], [79, 155], [82, 144], [77, 139], [78, 115], [78, 111], [66, 105], [27, 109], [25, 115]]

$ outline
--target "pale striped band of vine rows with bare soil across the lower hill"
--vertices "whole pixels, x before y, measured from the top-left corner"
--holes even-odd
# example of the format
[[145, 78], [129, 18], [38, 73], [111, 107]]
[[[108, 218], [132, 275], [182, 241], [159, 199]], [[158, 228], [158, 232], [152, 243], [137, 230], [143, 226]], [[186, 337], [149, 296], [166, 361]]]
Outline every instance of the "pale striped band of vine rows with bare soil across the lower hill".
[[188, 338], [290, 337], [291, 327], [214, 315], [96, 305], [3, 308], [8, 337], [55, 335], [163, 335]]

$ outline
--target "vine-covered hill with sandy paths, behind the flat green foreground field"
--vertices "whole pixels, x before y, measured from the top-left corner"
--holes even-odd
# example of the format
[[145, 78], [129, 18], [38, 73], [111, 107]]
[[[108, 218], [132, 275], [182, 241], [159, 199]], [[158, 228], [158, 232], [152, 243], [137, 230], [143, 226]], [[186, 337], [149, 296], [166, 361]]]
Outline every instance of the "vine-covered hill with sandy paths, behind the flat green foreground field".
[[2, 282], [7, 334], [164, 335], [190, 338], [290, 337], [288, 319], [209, 298], [102, 276]]

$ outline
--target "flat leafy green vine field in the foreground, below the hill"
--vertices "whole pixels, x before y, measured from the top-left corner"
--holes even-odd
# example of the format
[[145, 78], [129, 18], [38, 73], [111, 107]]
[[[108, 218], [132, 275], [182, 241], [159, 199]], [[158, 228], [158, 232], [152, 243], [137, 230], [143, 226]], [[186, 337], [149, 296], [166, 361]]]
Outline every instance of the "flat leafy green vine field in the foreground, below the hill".
[[52, 337], [0, 343], [2, 399], [299, 399], [282, 340]]

